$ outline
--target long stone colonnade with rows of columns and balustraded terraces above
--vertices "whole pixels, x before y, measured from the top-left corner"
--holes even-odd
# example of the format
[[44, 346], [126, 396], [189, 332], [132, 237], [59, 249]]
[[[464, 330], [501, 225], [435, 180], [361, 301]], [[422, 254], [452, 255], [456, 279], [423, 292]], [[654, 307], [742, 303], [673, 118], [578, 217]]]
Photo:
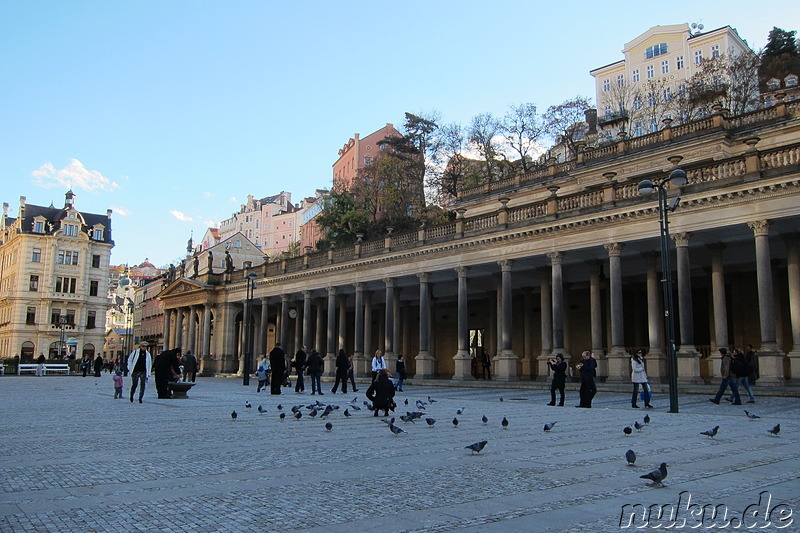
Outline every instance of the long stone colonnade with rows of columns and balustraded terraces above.
[[[281, 340], [343, 348], [369, 374], [376, 349], [411, 376], [472, 379], [486, 350], [500, 380], [548, 377], [583, 350], [628, 382], [647, 352], [666, 380], [658, 205], [639, 194], [680, 166], [670, 190], [678, 381], [719, 376], [716, 348], [753, 344], [759, 384], [800, 378], [800, 104], [723, 112], [575, 159], [462, 190], [458, 217], [296, 259], [176, 280], [160, 298], [168, 346], [191, 342], [206, 372], [241, 372]], [[255, 289], [248, 298], [249, 276]], [[246, 318], [248, 317], [248, 318]], [[247, 369], [252, 371], [253, 369]]]

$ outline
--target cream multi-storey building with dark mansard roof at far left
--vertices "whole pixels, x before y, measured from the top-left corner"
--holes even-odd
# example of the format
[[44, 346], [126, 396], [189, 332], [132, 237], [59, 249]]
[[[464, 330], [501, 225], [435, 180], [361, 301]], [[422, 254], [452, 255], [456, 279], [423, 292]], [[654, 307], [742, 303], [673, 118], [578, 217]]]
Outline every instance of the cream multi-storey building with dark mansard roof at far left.
[[111, 210], [86, 213], [66, 193], [63, 208], [20, 198], [16, 218], [3, 204], [0, 224], [0, 355], [28, 361], [95, 357], [103, 350]]

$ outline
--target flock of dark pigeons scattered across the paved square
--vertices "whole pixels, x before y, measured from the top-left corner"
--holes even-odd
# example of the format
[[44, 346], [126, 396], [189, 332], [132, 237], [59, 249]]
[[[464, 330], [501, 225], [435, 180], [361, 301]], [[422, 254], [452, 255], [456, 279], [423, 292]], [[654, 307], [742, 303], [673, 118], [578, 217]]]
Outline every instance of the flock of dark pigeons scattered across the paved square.
[[[500, 401], [501, 402], [503, 401], [502, 397], [500, 398]], [[343, 411], [343, 416], [345, 418], [350, 418], [351, 416], [353, 416], [353, 413], [351, 411], [361, 411], [361, 407], [359, 407], [357, 405], [357, 403], [358, 403], [358, 397], [357, 396], [354, 397], [352, 400], [350, 400], [349, 404], [347, 405], [347, 407]], [[408, 406], [410, 405], [410, 402], [409, 402], [408, 399], [406, 399], [403, 403], [404, 403], [406, 408], [408, 408]], [[426, 415], [427, 415], [428, 407], [432, 406], [434, 403], [436, 403], [436, 400], [431, 398], [430, 396], [428, 396], [427, 401], [416, 400], [414, 402], [414, 407], [416, 408], [415, 411], [406, 411], [406, 413], [404, 415], [399, 415], [399, 416], [397, 416], [397, 418], [399, 418], [405, 424], [415, 424], [416, 420], [424, 419], [425, 423], [428, 426], [428, 428], [432, 428], [436, 424], [436, 419], [433, 418], [432, 416], [426, 416]], [[362, 402], [362, 404], [366, 409], [368, 409], [370, 411], [374, 411], [374, 407], [369, 402], [364, 401], [364, 402]], [[245, 402], [245, 409], [252, 409], [252, 407], [253, 406], [249, 401]], [[339, 409], [340, 409], [339, 405], [336, 405], [336, 404], [325, 404], [323, 402], [320, 402], [319, 400], [316, 400], [316, 401], [314, 401], [314, 402], [312, 402], [310, 404], [307, 404], [307, 405], [306, 404], [294, 405], [289, 409], [289, 411], [292, 413], [291, 416], [295, 420], [300, 420], [300, 419], [303, 418], [303, 416], [307, 416], [307, 417], [310, 417], [312, 419], [316, 418], [317, 416], [319, 416], [320, 419], [325, 420], [331, 414], [333, 414], [334, 411], [337, 411]], [[261, 406], [261, 405], [258, 406], [257, 410], [258, 410], [259, 414], [262, 414], [262, 415], [267, 413], [267, 410], [264, 409], [263, 406]], [[458, 417], [462, 416], [464, 414], [465, 410], [466, 410], [466, 408], [464, 408], [464, 407], [458, 408], [456, 410], [455, 416], [453, 417], [453, 420], [451, 422], [454, 428], [458, 427], [458, 424], [459, 424]], [[277, 405], [277, 411], [278, 411], [278, 418], [281, 421], [285, 420], [286, 417], [287, 417], [287, 413], [284, 411], [284, 407], [283, 407], [282, 404], [278, 404]], [[749, 412], [747, 410], [745, 410], [744, 413], [747, 416], [747, 418], [749, 420], [751, 420], [751, 421], [755, 421], [755, 420], [758, 420], [758, 419], [761, 418], [760, 416], [758, 416], [758, 415], [756, 415], [754, 413], [751, 413], [751, 412]], [[239, 416], [239, 414], [234, 409], [233, 412], [231, 412], [231, 419], [233, 419], [235, 421], [238, 418], [238, 416]], [[382, 419], [382, 422], [384, 422], [389, 427], [389, 430], [395, 436], [398, 436], [398, 435], [403, 434], [403, 433], [407, 433], [406, 430], [404, 430], [403, 428], [401, 428], [400, 426], [395, 424], [395, 421], [396, 421], [397, 418], [392, 416], [391, 418]], [[489, 418], [486, 415], [482, 415], [481, 418], [480, 418], [480, 421], [484, 426], [489, 424]], [[642, 419], [642, 422], [639, 422], [637, 420], [633, 424], [631, 424], [629, 426], [625, 426], [622, 429], [622, 432], [626, 436], [629, 436], [629, 435], [633, 434], [633, 430], [634, 429], [637, 432], [641, 431], [648, 424], [650, 424], [650, 421], [651, 421], [650, 415], [645, 415], [644, 418]], [[545, 432], [550, 432], [555, 427], [555, 425], [557, 423], [558, 423], [558, 421], [547, 422], [544, 425], [544, 431]], [[503, 429], [507, 429], [509, 424], [510, 423], [508, 421], [508, 418], [506, 418], [505, 416], [500, 421], [500, 426]], [[326, 431], [332, 431], [333, 430], [333, 423], [330, 422], [330, 421], [326, 421], [324, 427], [325, 427]], [[772, 429], [768, 429], [767, 430], [767, 432], [770, 435], [773, 435], [773, 436], [778, 436], [780, 431], [781, 431], [781, 425], [780, 424], [776, 424]], [[718, 432], [719, 432], [719, 426], [714, 426], [713, 428], [711, 428], [711, 429], [709, 429], [707, 431], [702, 431], [700, 434], [701, 435], [705, 435], [705, 436], [713, 439], [717, 435]], [[472, 444], [469, 444], [469, 445], [465, 446], [464, 448], [467, 449], [467, 450], [470, 450], [472, 455], [480, 454], [488, 443], [489, 443], [488, 440], [482, 440], [482, 441], [478, 441], [478, 442], [474, 442]], [[636, 464], [636, 452], [634, 452], [633, 450], [628, 450], [627, 452], [625, 452], [625, 460], [627, 461], [628, 466], [635, 466], [635, 464]], [[662, 462], [661, 465], [657, 469], [655, 469], [655, 470], [653, 470], [651, 472], [648, 472], [647, 474], [641, 475], [639, 477], [641, 479], [650, 480], [652, 482], [651, 483], [652, 486], [664, 487], [665, 486], [664, 485], [664, 479], [666, 479], [666, 477], [667, 477], [667, 466], [668, 466], [667, 463]]]

